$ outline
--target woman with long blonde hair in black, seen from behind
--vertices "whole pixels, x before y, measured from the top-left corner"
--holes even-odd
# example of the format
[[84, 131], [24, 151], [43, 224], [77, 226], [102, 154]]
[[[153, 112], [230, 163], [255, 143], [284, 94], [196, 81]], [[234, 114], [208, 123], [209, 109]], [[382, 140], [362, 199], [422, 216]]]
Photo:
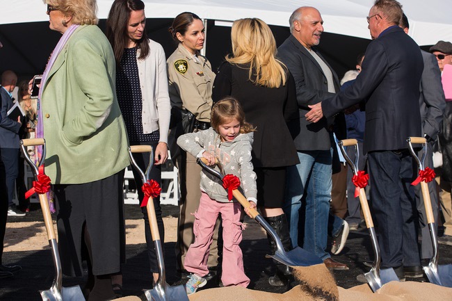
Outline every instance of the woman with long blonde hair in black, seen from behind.
[[[260, 19], [239, 19], [232, 24], [232, 56], [220, 66], [213, 83], [214, 102], [230, 95], [239, 99], [248, 122], [257, 131], [252, 144], [252, 163], [257, 174], [257, 200], [262, 215], [291, 250], [286, 216], [282, 211], [286, 167], [298, 156], [291, 131], [297, 131], [298, 106], [293, 77], [276, 58], [276, 42], [268, 25]], [[293, 121], [293, 122], [291, 122]], [[275, 242], [268, 236], [271, 253]], [[277, 264], [268, 282], [282, 286], [289, 274]]]

